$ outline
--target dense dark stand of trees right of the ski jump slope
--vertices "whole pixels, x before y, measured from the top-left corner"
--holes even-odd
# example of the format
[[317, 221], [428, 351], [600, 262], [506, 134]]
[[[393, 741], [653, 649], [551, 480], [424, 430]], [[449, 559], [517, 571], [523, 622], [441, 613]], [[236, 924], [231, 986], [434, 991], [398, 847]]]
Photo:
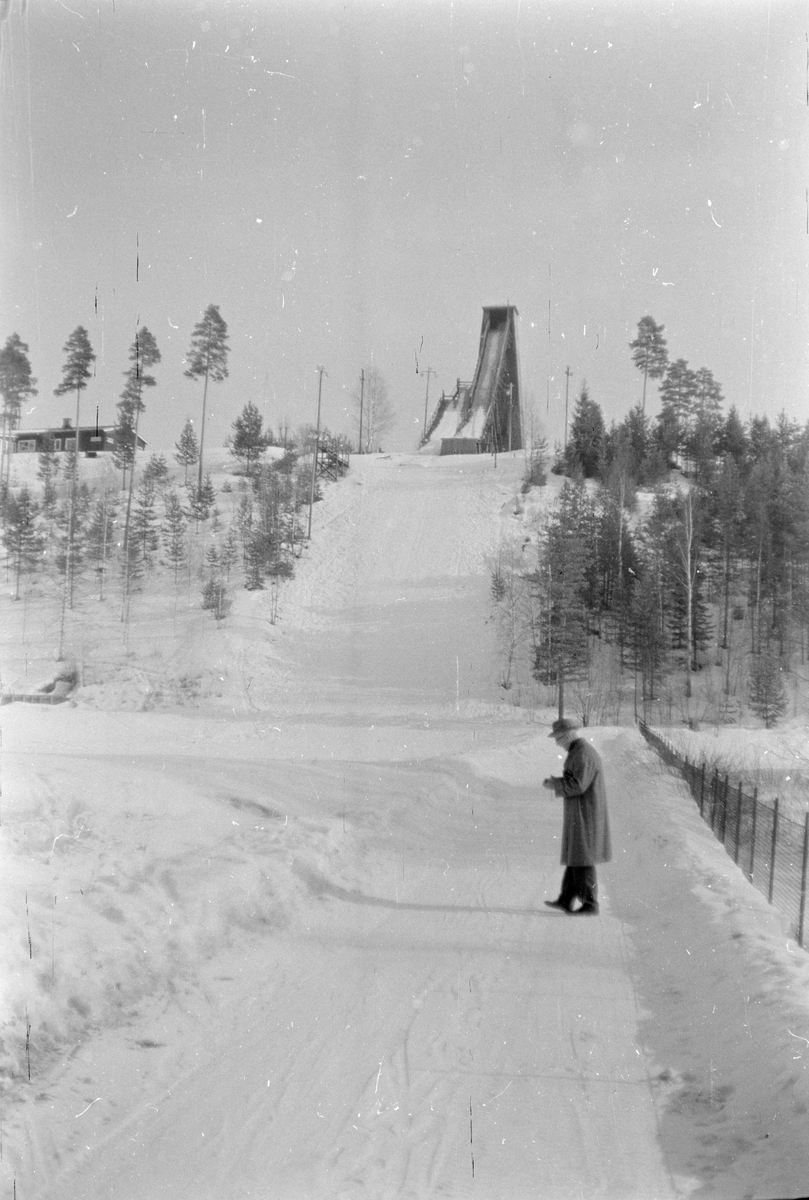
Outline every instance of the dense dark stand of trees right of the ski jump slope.
[[[695, 673], [721, 668], [699, 715], [749, 706], [769, 726], [809, 643], [809, 424], [723, 416], [711, 373], [669, 364], [652, 318], [631, 348], [645, 391], [661, 380], [660, 415], [643, 401], [605, 430], [582, 388], [534, 560], [505, 547], [493, 566], [503, 683], [527, 653], [585, 722], [618, 720], [630, 689], [647, 720], [675, 704], [694, 720]], [[639, 488], [653, 492], [642, 506]]]

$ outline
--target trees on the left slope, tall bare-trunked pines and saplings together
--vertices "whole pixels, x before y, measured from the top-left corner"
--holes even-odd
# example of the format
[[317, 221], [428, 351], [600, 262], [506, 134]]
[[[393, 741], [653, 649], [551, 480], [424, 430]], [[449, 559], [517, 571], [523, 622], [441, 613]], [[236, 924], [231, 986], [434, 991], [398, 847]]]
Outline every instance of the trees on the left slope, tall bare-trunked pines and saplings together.
[[[0, 521], [7, 569], [13, 572], [14, 596], [29, 575], [55, 570], [62, 581], [61, 610], [74, 605], [79, 584], [94, 581], [94, 592], [104, 598], [110, 572], [120, 582], [121, 619], [128, 622], [132, 592], [155, 566], [167, 566], [176, 587], [196, 575], [202, 580], [202, 602], [217, 618], [229, 607], [228, 586], [241, 570], [244, 586], [257, 589], [269, 583], [272, 613], [277, 584], [293, 572], [304, 541], [301, 510], [319, 498], [308, 461], [313, 437], [308, 428], [298, 438], [284, 430], [274, 438], [254, 404], [247, 403], [232, 425], [227, 440], [241, 472], [238, 494], [232, 496], [226, 520], [221, 497], [203, 475], [203, 443], [209, 382], [227, 376], [227, 325], [215, 305], [194, 326], [186, 355], [185, 374], [203, 382], [199, 438], [186, 419], [174, 446], [174, 461], [182, 468], [179, 486], [170, 482], [163, 455], [138, 461], [138, 426], [145, 412], [148, 390], [156, 386], [151, 373], [161, 361], [157, 343], [144, 325], [130, 348], [128, 367], [118, 403], [114, 451], [94, 469], [94, 485], [82, 479], [78, 437], [72, 452], [56, 451], [46, 440], [37, 455], [41, 487], [10, 486], [11, 455], [7, 433], [19, 424], [22, 406], [36, 395], [36, 379], [28, 346], [13, 334], [0, 350], [0, 392], [4, 400], [4, 462], [0, 469]], [[92, 374], [95, 353], [86, 330], [78, 326], [65, 344], [65, 367], [56, 395], [76, 395], [76, 426], [80, 427], [80, 398]], [[322, 431], [322, 440], [329, 438]], [[265, 451], [280, 445], [283, 452], [265, 462]], [[188, 479], [191, 468], [196, 479]], [[118, 474], [120, 473], [120, 475]], [[84, 472], [86, 474], [86, 469]], [[222, 492], [233, 493], [227, 482]], [[218, 503], [217, 503], [218, 502]], [[60, 637], [61, 643], [61, 637]], [[60, 644], [61, 653], [61, 644]]]

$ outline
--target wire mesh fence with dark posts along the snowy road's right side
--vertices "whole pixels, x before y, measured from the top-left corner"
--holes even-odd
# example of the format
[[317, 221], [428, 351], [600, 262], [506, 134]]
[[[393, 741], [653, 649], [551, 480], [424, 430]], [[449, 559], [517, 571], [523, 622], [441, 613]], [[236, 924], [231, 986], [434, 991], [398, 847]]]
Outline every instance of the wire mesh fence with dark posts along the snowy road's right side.
[[807, 946], [807, 886], [809, 863], [809, 812], [803, 824], [759, 799], [757, 788], [744, 790], [718, 768], [690, 762], [645, 721], [639, 727], [646, 740], [669, 766], [678, 770], [696, 800], [702, 818], [724, 845], [750, 883], [790, 922], [790, 934]]

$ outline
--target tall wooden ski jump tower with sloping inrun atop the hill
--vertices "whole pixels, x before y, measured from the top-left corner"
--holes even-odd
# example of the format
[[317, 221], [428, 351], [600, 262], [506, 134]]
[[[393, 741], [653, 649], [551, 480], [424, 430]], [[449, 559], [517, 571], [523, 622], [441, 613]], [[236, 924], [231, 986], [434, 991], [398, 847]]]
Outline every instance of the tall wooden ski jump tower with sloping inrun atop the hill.
[[442, 392], [423, 445], [439, 443], [439, 454], [522, 449], [517, 316], [514, 305], [484, 308], [474, 379]]

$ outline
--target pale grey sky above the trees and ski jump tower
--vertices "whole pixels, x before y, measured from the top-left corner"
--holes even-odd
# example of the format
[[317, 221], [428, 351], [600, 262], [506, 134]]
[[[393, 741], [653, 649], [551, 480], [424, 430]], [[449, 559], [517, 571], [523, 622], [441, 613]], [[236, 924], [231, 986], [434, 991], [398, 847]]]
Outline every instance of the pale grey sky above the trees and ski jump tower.
[[[0, 0], [0, 340], [29, 343], [23, 426], [72, 413], [62, 347], [97, 354], [115, 419], [127, 350], [162, 353], [142, 432], [170, 451], [209, 304], [230, 376], [206, 444], [252, 400], [277, 430], [354, 426], [360, 370], [413, 449], [474, 372], [484, 305], [520, 311], [523, 401], [551, 442], [582, 380], [641, 396], [651, 313], [743, 416], [804, 421], [803, 2]], [[421, 373], [417, 373], [417, 370]], [[657, 394], [648, 402], [659, 410]]]

